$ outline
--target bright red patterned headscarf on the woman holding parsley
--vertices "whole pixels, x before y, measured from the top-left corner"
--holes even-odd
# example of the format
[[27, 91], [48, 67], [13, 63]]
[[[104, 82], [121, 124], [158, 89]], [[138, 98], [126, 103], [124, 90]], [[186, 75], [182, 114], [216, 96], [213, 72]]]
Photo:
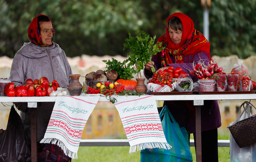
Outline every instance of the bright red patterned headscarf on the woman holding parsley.
[[161, 66], [165, 67], [166, 64], [172, 63], [171, 55], [175, 57], [175, 63], [184, 63], [184, 56], [194, 57], [197, 52], [204, 52], [210, 58], [210, 42], [202, 33], [194, 29], [193, 21], [187, 15], [176, 12], [167, 18], [166, 24], [172, 17], [181, 20], [183, 28], [181, 42], [178, 45], [174, 44], [166, 27], [166, 34], [158, 39], [158, 43], [162, 42], [162, 46], [165, 47], [163, 52], [157, 54], [157, 57], [161, 58]]

